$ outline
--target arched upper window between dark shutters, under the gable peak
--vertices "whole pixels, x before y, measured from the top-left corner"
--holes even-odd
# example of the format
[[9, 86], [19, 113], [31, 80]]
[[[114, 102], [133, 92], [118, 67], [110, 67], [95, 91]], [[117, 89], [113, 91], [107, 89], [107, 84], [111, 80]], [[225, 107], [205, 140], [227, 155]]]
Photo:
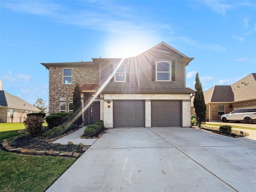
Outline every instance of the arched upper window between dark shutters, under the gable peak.
[[169, 62], [156, 63], [156, 80], [170, 81], [171, 79], [171, 64]]

